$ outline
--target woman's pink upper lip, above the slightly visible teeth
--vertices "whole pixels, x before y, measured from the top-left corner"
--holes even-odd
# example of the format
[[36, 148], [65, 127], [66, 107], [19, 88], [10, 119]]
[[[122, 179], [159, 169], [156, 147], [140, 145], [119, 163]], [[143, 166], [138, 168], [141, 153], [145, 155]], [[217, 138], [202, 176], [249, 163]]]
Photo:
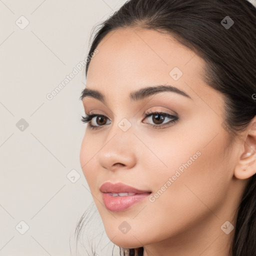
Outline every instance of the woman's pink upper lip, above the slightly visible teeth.
[[135, 187], [129, 186], [121, 182], [118, 182], [118, 183], [105, 182], [100, 186], [99, 190], [103, 193], [132, 192], [132, 193], [140, 194], [140, 193], [151, 192], [148, 190], [139, 190]]

